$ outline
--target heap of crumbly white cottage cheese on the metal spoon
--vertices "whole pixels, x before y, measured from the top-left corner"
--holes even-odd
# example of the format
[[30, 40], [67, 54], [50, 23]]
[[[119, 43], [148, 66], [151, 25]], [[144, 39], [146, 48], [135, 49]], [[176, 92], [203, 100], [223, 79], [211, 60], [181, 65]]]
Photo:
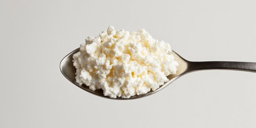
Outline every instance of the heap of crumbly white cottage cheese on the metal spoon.
[[147, 31], [115, 30], [110, 26], [97, 37], [87, 37], [73, 55], [76, 82], [102, 89], [110, 98], [130, 98], [155, 91], [175, 74], [178, 62], [171, 46]]

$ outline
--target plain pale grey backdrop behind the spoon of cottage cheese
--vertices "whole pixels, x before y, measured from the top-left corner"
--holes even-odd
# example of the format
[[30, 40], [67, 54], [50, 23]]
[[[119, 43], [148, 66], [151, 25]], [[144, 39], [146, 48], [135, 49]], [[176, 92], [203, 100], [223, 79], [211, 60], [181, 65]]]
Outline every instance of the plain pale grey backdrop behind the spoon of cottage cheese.
[[256, 127], [256, 74], [190, 73], [149, 97], [100, 98], [60, 72], [108, 26], [146, 29], [193, 61], [256, 62], [256, 1], [0, 0], [0, 127]]

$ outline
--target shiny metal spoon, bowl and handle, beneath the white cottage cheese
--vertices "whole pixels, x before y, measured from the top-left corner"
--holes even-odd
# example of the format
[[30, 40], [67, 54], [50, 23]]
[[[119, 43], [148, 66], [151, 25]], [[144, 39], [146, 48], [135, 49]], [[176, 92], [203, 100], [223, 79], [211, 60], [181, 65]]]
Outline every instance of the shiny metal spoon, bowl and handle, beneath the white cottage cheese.
[[208, 69], [228, 69], [228, 70], [240, 70], [240, 71], [250, 71], [256, 73], [256, 62], [231, 62], [231, 61], [205, 61], [205, 62], [193, 62], [188, 61], [186, 59], [183, 59], [180, 57], [179, 54], [172, 51], [172, 54], [174, 56], [174, 60], [176, 60], [179, 63], [179, 66], [177, 67], [177, 73], [174, 75], [169, 75], [167, 78], [169, 79], [168, 82], [164, 83], [162, 86], [160, 86], [155, 91], [150, 91], [146, 94], [141, 95], [134, 95], [130, 97], [129, 99], [123, 99], [123, 98], [110, 98], [103, 95], [103, 90], [95, 90], [92, 91], [89, 89], [89, 86], [86, 86], [84, 84], [79, 85], [76, 83], [75, 79], [75, 73], [76, 68], [73, 66], [73, 54], [78, 52], [79, 48], [74, 50], [73, 52], [70, 52], [66, 57], [64, 57], [60, 62], [60, 71], [61, 73], [73, 84], [80, 87], [81, 89], [90, 92], [92, 94], [98, 95], [103, 98], [108, 99], [117, 99], [117, 100], [129, 100], [129, 99], [137, 99], [142, 97], [147, 97], [148, 95], [154, 94], [166, 87], [167, 85], [171, 84], [173, 81], [175, 81], [177, 78], [193, 72], [197, 70], [208, 70]]

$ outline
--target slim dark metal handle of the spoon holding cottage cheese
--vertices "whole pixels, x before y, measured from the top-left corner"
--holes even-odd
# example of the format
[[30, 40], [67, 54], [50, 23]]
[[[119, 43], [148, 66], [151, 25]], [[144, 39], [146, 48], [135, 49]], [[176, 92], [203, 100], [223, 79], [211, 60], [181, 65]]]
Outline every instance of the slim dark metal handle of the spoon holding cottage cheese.
[[232, 62], [232, 61], [204, 61], [190, 62], [189, 69], [206, 70], [206, 69], [227, 69], [250, 71], [256, 73], [256, 62]]

